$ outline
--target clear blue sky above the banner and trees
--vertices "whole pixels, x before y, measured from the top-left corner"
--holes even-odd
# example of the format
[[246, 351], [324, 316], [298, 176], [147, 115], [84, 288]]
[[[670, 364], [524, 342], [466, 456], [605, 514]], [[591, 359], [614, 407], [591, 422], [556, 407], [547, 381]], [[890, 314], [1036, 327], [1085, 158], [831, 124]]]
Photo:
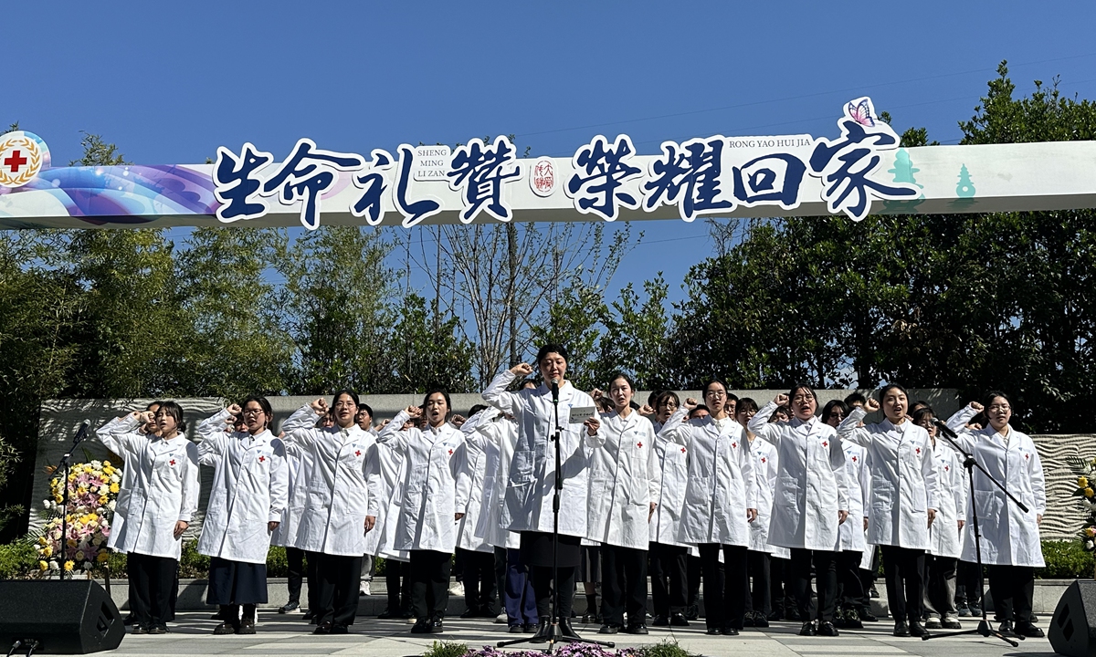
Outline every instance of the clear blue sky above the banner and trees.
[[[0, 123], [56, 163], [80, 130], [146, 164], [299, 137], [366, 153], [514, 134], [570, 155], [593, 135], [836, 134], [870, 95], [901, 132], [955, 143], [1002, 59], [1019, 93], [1061, 76], [1096, 96], [1092, 2], [12, 2]], [[618, 288], [674, 299], [711, 254], [701, 221], [649, 221]]]

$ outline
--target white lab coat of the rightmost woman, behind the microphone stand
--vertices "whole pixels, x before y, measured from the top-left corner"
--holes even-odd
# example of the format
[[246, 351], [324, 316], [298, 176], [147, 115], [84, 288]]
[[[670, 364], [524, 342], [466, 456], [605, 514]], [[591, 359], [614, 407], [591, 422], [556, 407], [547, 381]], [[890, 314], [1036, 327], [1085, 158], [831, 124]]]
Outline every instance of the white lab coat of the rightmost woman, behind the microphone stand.
[[[970, 511], [977, 510], [982, 533], [982, 563], [1043, 567], [1046, 563], [1036, 516], [1047, 512], [1047, 484], [1035, 441], [1012, 426], [1008, 427], [1007, 440], [992, 426], [986, 426], [979, 431], [959, 434], [958, 442], [993, 479], [1028, 507], [1027, 512], [1021, 511], [984, 474], [974, 470], [974, 499], [967, 504], [967, 525], [973, 527]], [[950, 442], [947, 445], [950, 446]], [[963, 531], [960, 558], [964, 562], [977, 561], [972, 531]]]

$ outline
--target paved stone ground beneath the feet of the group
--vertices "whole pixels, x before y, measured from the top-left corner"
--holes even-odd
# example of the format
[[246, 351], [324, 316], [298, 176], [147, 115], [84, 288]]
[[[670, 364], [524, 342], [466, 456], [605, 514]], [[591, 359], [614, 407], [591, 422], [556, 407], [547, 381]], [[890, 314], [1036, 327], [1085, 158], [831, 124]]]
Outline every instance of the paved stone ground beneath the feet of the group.
[[[179, 614], [171, 626], [171, 633], [162, 636], [129, 635], [119, 648], [107, 653], [118, 657], [196, 657], [201, 655], [242, 655], [246, 657], [326, 655], [368, 657], [412, 657], [421, 655], [434, 641], [452, 641], [470, 646], [494, 645], [495, 642], [517, 635], [506, 633], [503, 624], [490, 620], [446, 620], [446, 633], [425, 638], [409, 633], [411, 626], [402, 621], [378, 621], [358, 619], [345, 636], [312, 636], [311, 625], [299, 614], [278, 615], [260, 611], [258, 633], [253, 636], [213, 636], [215, 621], [207, 612]], [[1046, 626], [1044, 623], [1042, 623]], [[974, 623], [964, 623], [973, 629]], [[901, 655], [923, 655], [925, 657], [1003, 657], [1011, 655], [1053, 655], [1050, 643], [1042, 639], [1020, 642], [1019, 648], [996, 638], [981, 636], [944, 637], [923, 642], [917, 638], [890, 636], [889, 622], [869, 623], [865, 630], [842, 630], [835, 638], [798, 636], [799, 623], [773, 623], [767, 630], [746, 630], [735, 637], [710, 637], [704, 634], [704, 623], [694, 622], [680, 632], [652, 629], [648, 636], [618, 634], [614, 638], [617, 647], [643, 645], [674, 638], [682, 647], [695, 654], [717, 655], [761, 655], [764, 657], [843, 657], [855, 655], [882, 657]], [[594, 625], [575, 625], [575, 630], [587, 638], [596, 638]], [[534, 648], [525, 645], [520, 648]]]

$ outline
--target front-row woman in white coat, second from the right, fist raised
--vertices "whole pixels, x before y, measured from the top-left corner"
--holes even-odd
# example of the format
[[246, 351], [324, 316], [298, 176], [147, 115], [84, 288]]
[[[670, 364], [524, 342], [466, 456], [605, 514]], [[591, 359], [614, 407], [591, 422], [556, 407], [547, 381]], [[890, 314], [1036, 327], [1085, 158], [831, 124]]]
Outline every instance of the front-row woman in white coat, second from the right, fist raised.
[[[933, 445], [928, 433], [906, 415], [910, 401], [904, 388], [884, 385], [878, 397], [849, 412], [837, 433], [868, 451], [868, 543], [882, 550], [894, 636], [924, 636], [928, 632], [921, 624], [925, 551], [939, 495]], [[883, 422], [858, 426], [880, 405]]]

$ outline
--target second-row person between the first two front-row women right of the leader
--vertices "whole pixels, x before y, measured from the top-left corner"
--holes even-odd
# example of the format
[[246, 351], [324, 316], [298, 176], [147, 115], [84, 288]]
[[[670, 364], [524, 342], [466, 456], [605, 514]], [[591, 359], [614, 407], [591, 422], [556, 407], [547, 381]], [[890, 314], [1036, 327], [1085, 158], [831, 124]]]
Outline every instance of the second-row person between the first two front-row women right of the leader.
[[[654, 433], [681, 407], [673, 391], [664, 391], [653, 400]], [[687, 627], [688, 544], [677, 540], [685, 484], [688, 481], [688, 449], [685, 446], [655, 438], [654, 456], [659, 469], [659, 506], [651, 516], [651, 542], [648, 546], [651, 573], [651, 602], [655, 627]]]

